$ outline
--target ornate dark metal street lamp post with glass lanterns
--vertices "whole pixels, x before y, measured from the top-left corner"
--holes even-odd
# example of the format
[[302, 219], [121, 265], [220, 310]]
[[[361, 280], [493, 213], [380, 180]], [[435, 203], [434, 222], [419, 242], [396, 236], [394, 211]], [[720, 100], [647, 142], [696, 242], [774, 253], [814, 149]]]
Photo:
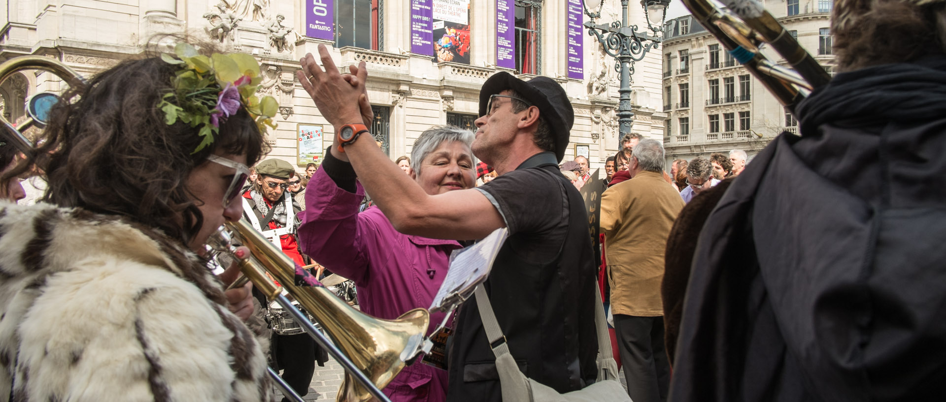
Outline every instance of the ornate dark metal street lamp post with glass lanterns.
[[585, 14], [590, 19], [584, 25], [588, 30], [588, 35], [595, 36], [598, 42], [601, 42], [604, 52], [616, 59], [614, 71], [621, 74], [621, 89], [618, 90], [621, 93], [621, 102], [618, 104], [618, 123], [623, 138], [631, 132], [631, 123], [634, 122], [634, 111], [631, 109], [631, 75], [634, 74], [634, 62], [643, 59], [651, 48], [657, 47], [660, 43], [660, 36], [657, 33], [663, 28], [670, 0], [640, 0], [640, 6], [644, 8], [644, 15], [647, 17], [647, 28], [651, 32], [638, 32], [638, 25], [628, 25], [628, 0], [621, 0], [622, 21], [615, 21], [610, 25], [595, 24], [595, 20], [601, 16], [604, 1], [601, 0], [595, 12], [591, 12], [585, 6], [585, 2], [582, 2]]

